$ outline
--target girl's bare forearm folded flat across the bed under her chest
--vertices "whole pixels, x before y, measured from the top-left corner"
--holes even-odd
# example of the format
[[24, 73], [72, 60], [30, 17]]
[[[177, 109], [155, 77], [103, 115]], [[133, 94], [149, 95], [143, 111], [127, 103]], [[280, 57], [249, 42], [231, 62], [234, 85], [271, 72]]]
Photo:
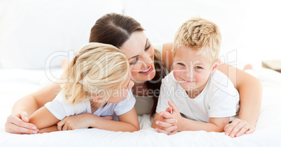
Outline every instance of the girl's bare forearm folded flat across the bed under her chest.
[[134, 132], [140, 130], [136, 109], [133, 108], [126, 114], [118, 116], [119, 121], [112, 121], [94, 114], [79, 114], [69, 116], [57, 123], [58, 130], [75, 130], [94, 127], [101, 130]]

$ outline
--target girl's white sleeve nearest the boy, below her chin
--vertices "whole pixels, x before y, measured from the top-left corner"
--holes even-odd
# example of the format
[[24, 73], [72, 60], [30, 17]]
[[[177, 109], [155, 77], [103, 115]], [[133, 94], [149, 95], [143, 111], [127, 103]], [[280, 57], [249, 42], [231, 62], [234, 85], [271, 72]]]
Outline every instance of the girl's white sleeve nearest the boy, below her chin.
[[117, 116], [126, 114], [128, 111], [131, 111], [131, 109], [133, 109], [135, 103], [136, 99], [134, 98], [134, 95], [130, 89], [127, 98], [125, 100], [122, 100], [121, 102], [118, 102], [113, 111]]

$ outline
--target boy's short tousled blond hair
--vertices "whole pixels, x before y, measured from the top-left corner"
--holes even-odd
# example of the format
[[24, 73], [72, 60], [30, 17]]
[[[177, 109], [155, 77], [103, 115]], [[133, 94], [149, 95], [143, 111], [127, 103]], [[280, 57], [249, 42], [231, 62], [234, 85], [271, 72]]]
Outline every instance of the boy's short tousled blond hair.
[[206, 56], [212, 64], [219, 58], [221, 42], [222, 35], [216, 24], [194, 17], [183, 23], [175, 33], [173, 57], [180, 47], [187, 46]]

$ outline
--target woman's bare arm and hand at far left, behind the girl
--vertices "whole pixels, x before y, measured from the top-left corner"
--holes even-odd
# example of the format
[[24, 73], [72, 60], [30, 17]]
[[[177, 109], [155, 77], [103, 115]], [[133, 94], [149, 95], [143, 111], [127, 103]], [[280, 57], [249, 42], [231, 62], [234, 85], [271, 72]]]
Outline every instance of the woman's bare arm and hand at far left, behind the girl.
[[38, 132], [36, 125], [29, 123], [29, 116], [43, 107], [46, 102], [52, 101], [60, 90], [59, 84], [53, 83], [17, 100], [13, 106], [12, 114], [7, 118], [6, 132], [16, 134], [34, 134]]

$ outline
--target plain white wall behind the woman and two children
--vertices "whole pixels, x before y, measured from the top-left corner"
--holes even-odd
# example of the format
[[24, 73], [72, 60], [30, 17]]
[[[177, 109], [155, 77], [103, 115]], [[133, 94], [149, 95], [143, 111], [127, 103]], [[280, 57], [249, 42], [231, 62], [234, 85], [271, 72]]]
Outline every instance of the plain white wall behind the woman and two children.
[[281, 59], [278, 1], [0, 0], [0, 61], [4, 68], [42, 68], [53, 52], [87, 43], [94, 22], [110, 12], [134, 17], [152, 43], [173, 42], [182, 22], [203, 17], [220, 27], [226, 63], [258, 67]]

